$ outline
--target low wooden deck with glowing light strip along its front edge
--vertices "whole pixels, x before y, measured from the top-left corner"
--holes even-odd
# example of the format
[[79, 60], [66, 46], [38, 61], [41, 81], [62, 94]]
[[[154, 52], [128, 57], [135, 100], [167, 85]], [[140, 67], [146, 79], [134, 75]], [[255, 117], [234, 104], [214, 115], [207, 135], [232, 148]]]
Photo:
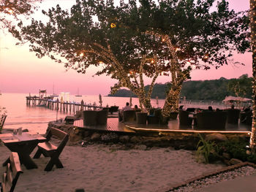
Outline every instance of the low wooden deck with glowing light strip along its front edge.
[[222, 131], [204, 131], [197, 130], [194, 126], [180, 126], [178, 119], [170, 120], [166, 126], [163, 125], [141, 125], [136, 122], [118, 122], [118, 118], [108, 118], [107, 125], [105, 126], [83, 126], [83, 120], [75, 120], [74, 126], [78, 128], [86, 128], [90, 130], [104, 130], [104, 131], [118, 131], [118, 132], [140, 132], [140, 131], [153, 131], [153, 132], [181, 132], [181, 133], [224, 133], [224, 134], [250, 134], [252, 126], [246, 126], [238, 123], [238, 125], [226, 124], [225, 130]]

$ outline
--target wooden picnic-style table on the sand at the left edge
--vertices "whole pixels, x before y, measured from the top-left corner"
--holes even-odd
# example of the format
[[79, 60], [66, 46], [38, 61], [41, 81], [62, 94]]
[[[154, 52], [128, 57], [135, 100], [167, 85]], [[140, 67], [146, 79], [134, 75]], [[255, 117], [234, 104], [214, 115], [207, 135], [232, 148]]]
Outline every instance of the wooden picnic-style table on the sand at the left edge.
[[[45, 142], [46, 138], [39, 134], [26, 132], [19, 134], [0, 134], [0, 139], [4, 145], [12, 152], [17, 152], [20, 157], [20, 164], [26, 166], [26, 169], [35, 169], [37, 164], [32, 161], [30, 154], [37, 147], [39, 142]], [[9, 158], [4, 162], [6, 166]]]

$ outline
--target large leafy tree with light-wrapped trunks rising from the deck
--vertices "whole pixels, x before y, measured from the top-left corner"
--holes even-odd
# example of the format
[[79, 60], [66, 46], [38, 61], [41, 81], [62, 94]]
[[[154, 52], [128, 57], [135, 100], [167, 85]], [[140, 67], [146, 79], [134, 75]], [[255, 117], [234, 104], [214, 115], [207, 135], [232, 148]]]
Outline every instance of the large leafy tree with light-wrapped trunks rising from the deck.
[[[118, 80], [113, 91], [129, 88], [147, 110], [155, 80], [161, 73], [170, 75], [172, 87], [163, 110], [167, 116], [178, 107], [191, 65], [218, 68], [228, 64], [234, 50], [244, 53], [249, 47], [246, 15], [228, 10], [226, 1], [210, 12], [213, 3], [141, 0], [138, 5], [131, 0], [115, 7], [113, 1], [77, 1], [70, 12], [59, 6], [43, 12], [48, 23], [32, 20], [21, 29], [21, 37], [31, 42], [39, 58], [48, 55], [83, 73], [90, 65], [101, 66], [97, 74]], [[148, 93], [145, 76], [152, 78]]]

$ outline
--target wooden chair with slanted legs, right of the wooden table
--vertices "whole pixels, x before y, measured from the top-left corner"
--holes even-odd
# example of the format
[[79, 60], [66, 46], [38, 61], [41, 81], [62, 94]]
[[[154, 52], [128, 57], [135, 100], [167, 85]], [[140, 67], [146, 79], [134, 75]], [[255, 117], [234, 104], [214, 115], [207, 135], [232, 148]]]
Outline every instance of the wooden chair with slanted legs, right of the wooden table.
[[[58, 147], [49, 142], [52, 136], [61, 139], [61, 142]], [[56, 165], [57, 168], [63, 168], [64, 166], [61, 164], [61, 161], [59, 160], [59, 155], [61, 155], [62, 150], [67, 144], [67, 141], [69, 140], [69, 134], [59, 130], [58, 128], [50, 128], [46, 136], [46, 139], [47, 142], [42, 142], [37, 145], [38, 150], [37, 153], [34, 154], [34, 158], [39, 158], [41, 154], [44, 155], [45, 157], [50, 157], [50, 161], [45, 166], [45, 171], [47, 172], [53, 169], [53, 165]]]

